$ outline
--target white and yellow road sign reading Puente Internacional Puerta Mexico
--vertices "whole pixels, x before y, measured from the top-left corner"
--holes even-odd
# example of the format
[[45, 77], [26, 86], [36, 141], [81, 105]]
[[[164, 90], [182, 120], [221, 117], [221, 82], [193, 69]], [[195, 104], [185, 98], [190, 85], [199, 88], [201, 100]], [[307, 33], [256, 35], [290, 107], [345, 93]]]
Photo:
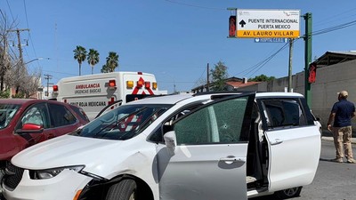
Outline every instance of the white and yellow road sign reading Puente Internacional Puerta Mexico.
[[296, 38], [300, 33], [299, 10], [237, 11], [237, 37]]

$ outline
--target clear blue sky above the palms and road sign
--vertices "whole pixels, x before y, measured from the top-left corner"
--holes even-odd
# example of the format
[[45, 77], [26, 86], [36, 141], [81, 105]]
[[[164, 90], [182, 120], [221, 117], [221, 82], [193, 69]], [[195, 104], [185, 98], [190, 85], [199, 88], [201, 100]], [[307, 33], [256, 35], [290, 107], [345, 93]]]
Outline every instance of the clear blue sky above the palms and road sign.
[[[335, 0], [0, 0], [1, 11], [17, 21], [17, 28], [30, 29], [21, 32], [21, 38], [28, 40], [24, 60], [50, 58], [31, 62], [28, 68], [41, 68], [42, 74], [53, 76], [54, 84], [78, 75], [73, 59], [77, 45], [100, 52], [94, 73], [100, 73], [109, 52], [117, 52], [117, 70], [152, 73], [159, 89], [168, 92], [174, 91], [174, 84], [176, 91], [190, 91], [206, 79], [206, 64], [214, 68], [219, 60], [228, 67], [229, 76], [287, 76], [288, 48], [262, 68], [254, 68], [284, 44], [227, 38], [229, 7], [312, 12], [313, 31], [356, 20], [354, 0], [342, 4]], [[304, 20], [300, 25], [303, 35]], [[355, 32], [356, 26], [351, 26], [313, 36], [312, 58], [327, 51], [356, 50]], [[303, 56], [304, 43], [299, 39], [293, 49], [293, 74], [303, 70]], [[85, 61], [82, 75], [89, 74]]]

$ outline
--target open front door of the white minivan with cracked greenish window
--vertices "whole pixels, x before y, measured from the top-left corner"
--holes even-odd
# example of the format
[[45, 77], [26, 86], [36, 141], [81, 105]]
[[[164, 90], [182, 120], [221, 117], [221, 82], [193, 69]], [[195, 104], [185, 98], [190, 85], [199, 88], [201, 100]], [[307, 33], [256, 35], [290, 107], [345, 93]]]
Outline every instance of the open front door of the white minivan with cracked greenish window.
[[[161, 199], [247, 199], [247, 141], [255, 92], [219, 98], [173, 124], [158, 145]], [[172, 143], [171, 143], [172, 144]]]

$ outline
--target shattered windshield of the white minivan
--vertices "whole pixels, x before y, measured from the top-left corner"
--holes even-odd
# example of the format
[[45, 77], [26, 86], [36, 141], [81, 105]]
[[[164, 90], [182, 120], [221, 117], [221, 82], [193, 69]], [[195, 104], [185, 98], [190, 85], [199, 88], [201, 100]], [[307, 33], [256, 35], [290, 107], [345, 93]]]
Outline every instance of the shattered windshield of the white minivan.
[[172, 105], [124, 105], [96, 118], [72, 135], [128, 140], [141, 133]]

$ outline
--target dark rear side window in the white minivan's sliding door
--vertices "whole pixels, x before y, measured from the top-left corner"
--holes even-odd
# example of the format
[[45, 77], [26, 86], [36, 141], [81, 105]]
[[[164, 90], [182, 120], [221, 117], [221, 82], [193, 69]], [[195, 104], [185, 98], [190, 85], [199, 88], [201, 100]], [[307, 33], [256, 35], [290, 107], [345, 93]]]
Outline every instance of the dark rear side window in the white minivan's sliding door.
[[299, 100], [262, 100], [262, 104], [269, 128], [307, 124]]

